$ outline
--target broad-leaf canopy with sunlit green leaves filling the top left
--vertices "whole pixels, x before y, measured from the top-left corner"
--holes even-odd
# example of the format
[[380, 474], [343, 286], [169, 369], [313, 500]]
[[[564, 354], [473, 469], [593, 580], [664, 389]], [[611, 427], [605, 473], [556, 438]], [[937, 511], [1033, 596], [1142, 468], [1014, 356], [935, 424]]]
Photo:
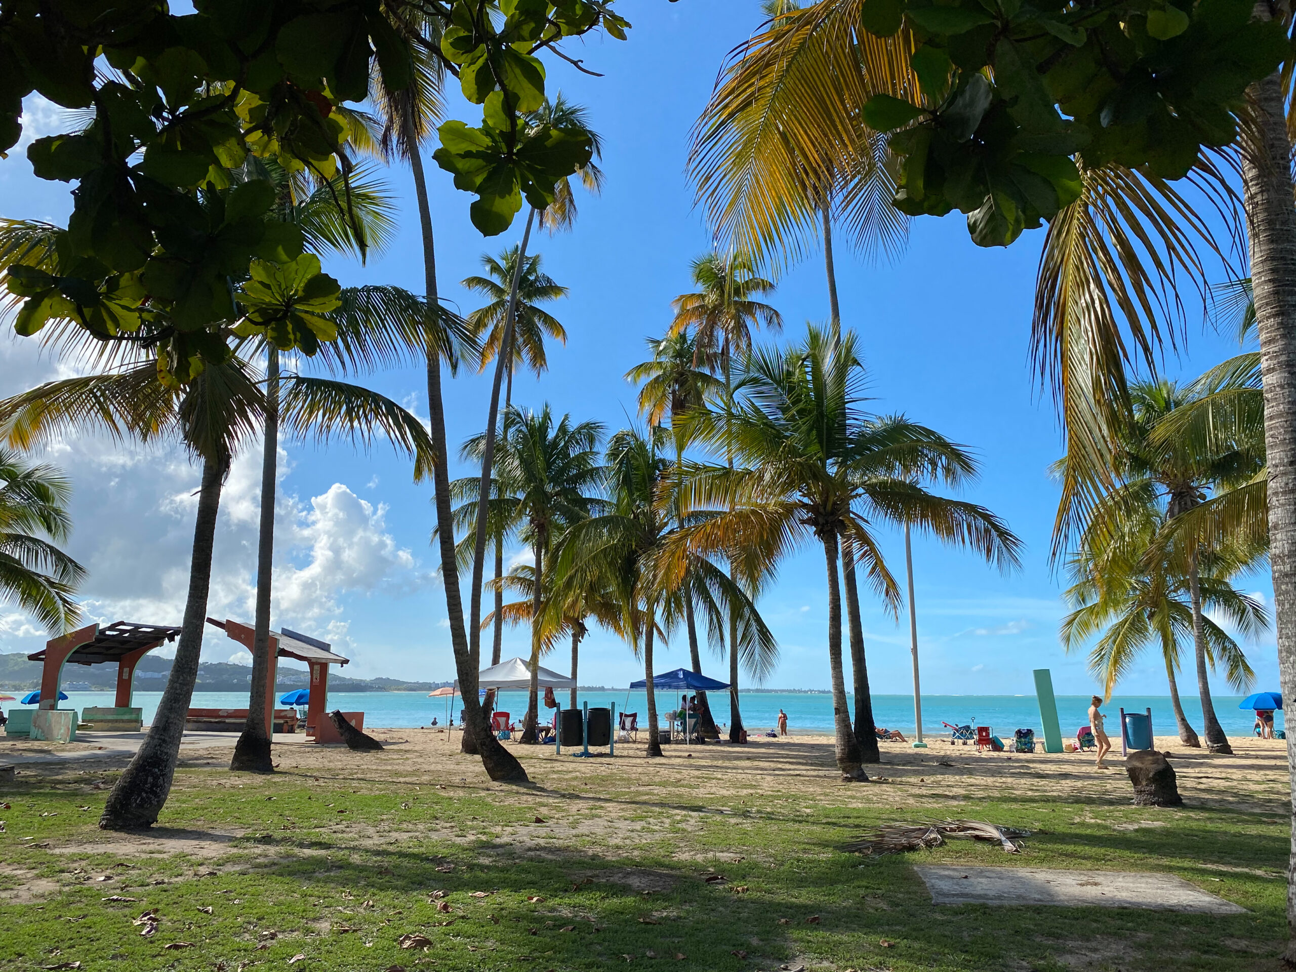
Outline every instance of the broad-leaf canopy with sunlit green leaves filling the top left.
[[553, 184], [590, 159], [587, 137], [527, 127], [520, 114], [543, 102], [543, 48], [600, 23], [625, 35], [608, 0], [196, 0], [185, 16], [165, 0], [5, 0], [0, 153], [21, 137], [34, 91], [92, 113], [82, 131], [27, 150], [38, 176], [75, 189], [56, 272], [6, 271], [23, 298], [18, 333], [67, 319], [156, 347], [176, 386], [228, 358], [241, 306], [251, 312], [240, 327], [284, 350], [311, 354], [330, 340], [319, 315], [336, 306], [336, 281], [305, 254], [275, 185], [233, 185], [231, 171], [255, 157], [311, 172], [337, 187], [354, 223], [337, 109], [368, 96], [373, 70], [389, 91], [412, 82], [420, 38], [408, 25], [429, 8], [452, 25], [439, 56], [485, 106], [480, 128], [443, 126], [438, 161], [477, 193], [478, 228], [499, 233], [524, 194], [547, 205]]

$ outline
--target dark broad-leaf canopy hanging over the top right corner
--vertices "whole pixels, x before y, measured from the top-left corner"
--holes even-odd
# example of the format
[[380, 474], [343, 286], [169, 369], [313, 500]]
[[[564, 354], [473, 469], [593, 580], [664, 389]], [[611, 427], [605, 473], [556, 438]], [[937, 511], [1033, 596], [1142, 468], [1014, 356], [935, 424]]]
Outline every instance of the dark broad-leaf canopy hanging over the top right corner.
[[1287, 52], [1251, 0], [862, 0], [859, 19], [908, 52], [916, 87], [875, 93], [893, 131], [896, 206], [966, 213], [981, 246], [1011, 244], [1081, 194], [1073, 157], [1179, 179], [1229, 145], [1245, 87]]

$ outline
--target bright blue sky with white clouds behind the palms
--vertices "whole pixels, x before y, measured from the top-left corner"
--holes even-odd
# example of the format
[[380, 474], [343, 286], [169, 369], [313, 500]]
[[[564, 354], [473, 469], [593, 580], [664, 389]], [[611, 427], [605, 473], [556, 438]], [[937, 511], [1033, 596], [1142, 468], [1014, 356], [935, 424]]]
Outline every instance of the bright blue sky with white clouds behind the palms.
[[[550, 69], [548, 88], [590, 108], [604, 136], [601, 197], [582, 197], [573, 233], [539, 236], [544, 270], [570, 288], [551, 310], [566, 325], [568, 346], [550, 351], [550, 372], [521, 377], [515, 399], [548, 402], [575, 419], [599, 419], [610, 429], [634, 415], [635, 393], [622, 378], [643, 360], [644, 338], [661, 334], [670, 301], [689, 289], [689, 260], [709, 246], [692, 207], [684, 166], [688, 131], [705, 104], [726, 52], [758, 25], [756, 4], [686, 0], [622, 0], [634, 23], [626, 43], [594, 38], [573, 56], [604, 74], [591, 78], [562, 64]], [[29, 101], [40, 133], [57, 130], [48, 105]], [[476, 123], [476, 109], [451, 98], [450, 117]], [[44, 127], [43, 127], [44, 126]], [[429, 153], [430, 153], [429, 146]], [[457, 310], [476, 307], [457, 281], [478, 272], [483, 251], [517, 241], [515, 229], [492, 240], [468, 222], [470, 198], [428, 163], [442, 294]], [[345, 284], [391, 283], [422, 289], [422, 266], [408, 174], [388, 174], [402, 198], [395, 244], [368, 266], [333, 260]], [[30, 175], [21, 152], [0, 162], [0, 198], [6, 216], [62, 220], [67, 187]], [[984, 250], [968, 240], [963, 219], [921, 219], [893, 263], [872, 266], [839, 248], [842, 318], [861, 340], [868, 391], [879, 411], [902, 411], [972, 447], [981, 481], [966, 498], [994, 509], [1025, 540], [1023, 570], [999, 575], [973, 557], [918, 540], [915, 573], [923, 687], [927, 692], [1032, 692], [1032, 669], [1050, 667], [1061, 693], [1091, 688], [1082, 657], [1065, 657], [1058, 643], [1064, 613], [1059, 581], [1047, 560], [1056, 489], [1047, 477], [1061, 439], [1052, 403], [1028, 360], [1030, 303], [1043, 231], [1028, 232], [1008, 249]], [[535, 249], [535, 248], [533, 248]], [[1222, 271], [1221, 271], [1222, 277]], [[1186, 301], [1187, 301], [1186, 294]], [[806, 321], [827, 318], [822, 260], [813, 257], [779, 280], [770, 301], [785, 320], [785, 338]], [[1187, 301], [1190, 308], [1191, 301]], [[1203, 324], [1200, 307], [1186, 327], [1190, 355], [1169, 358], [1170, 375], [1194, 375], [1232, 354], [1229, 336]], [[61, 373], [34, 353], [30, 341], [0, 345], [0, 391]], [[365, 378], [384, 393], [426, 413], [416, 369]], [[450, 437], [459, 442], [485, 422], [489, 385], [461, 375], [446, 384]], [[276, 625], [333, 638], [358, 675], [443, 679], [452, 674], [445, 600], [428, 546], [429, 489], [415, 486], [404, 463], [382, 448], [369, 456], [347, 447], [324, 452], [286, 443], [288, 472], [280, 483], [281, 594]], [[92, 617], [179, 621], [191, 521], [188, 490], [197, 481], [183, 457], [139, 455], [104, 442], [70, 442], [52, 450], [74, 476], [78, 533], [74, 555], [91, 568], [86, 588]], [[213, 610], [249, 618], [255, 569], [254, 524], [259, 457], [250, 454], [231, 481], [222, 533]], [[460, 470], [463, 472], [463, 470]], [[143, 552], [132, 538], [145, 539]], [[893, 569], [903, 568], [898, 534], [886, 537]], [[779, 638], [781, 662], [766, 683], [778, 688], [827, 688], [826, 592], [822, 553], [805, 550], [781, 565], [761, 609]], [[1267, 578], [1245, 582], [1269, 594]], [[908, 631], [871, 599], [864, 631], [877, 692], [911, 688]], [[148, 612], [149, 617], [137, 612]], [[0, 618], [0, 649], [31, 651], [41, 638], [17, 614]], [[522, 654], [529, 638], [505, 634], [505, 657]], [[205, 657], [226, 660], [235, 647], [213, 636]], [[1251, 645], [1257, 688], [1277, 684], [1273, 639]], [[687, 662], [677, 640], [661, 667]], [[564, 664], [555, 658], [556, 666]], [[709, 669], [719, 662], [708, 656]], [[586, 642], [582, 682], [626, 684], [636, 665], [609, 635]], [[718, 671], [715, 674], [719, 674]], [[1165, 675], [1151, 658], [1122, 683], [1122, 692], [1164, 693]], [[1223, 689], [1220, 684], [1217, 691]]]

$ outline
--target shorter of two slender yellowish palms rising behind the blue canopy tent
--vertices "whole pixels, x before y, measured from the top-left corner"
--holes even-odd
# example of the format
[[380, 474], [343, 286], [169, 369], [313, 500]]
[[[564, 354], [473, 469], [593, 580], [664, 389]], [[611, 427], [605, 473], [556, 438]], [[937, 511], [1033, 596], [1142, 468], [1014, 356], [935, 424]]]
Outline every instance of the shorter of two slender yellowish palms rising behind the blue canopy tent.
[[[675, 495], [680, 495], [680, 482], [684, 468], [684, 448], [687, 439], [678, 420], [689, 410], [701, 408], [708, 397], [715, 395], [723, 388], [709, 367], [713, 364], [710, 356], [702, 355], [699, 362], [697, 342], [689, 330], [682, 330], [674, 336], [661, 340], [647, 338], [648, 350], [652, 359], [636, 364], [626, 372], [626, 381], [642, 384], [639, 389], [639, 413], [647, 419], [648, 425], [660, 428], [667, 416], [670, 417], [671, 437], [675, 442]], [[699, 367], [699, 364], [704, 367]], [[678, 525], [683, 525], [683, 511], [675, 513]], [[684, 599], [684, 621], [688, 630], [688, 652], [692, 669], [699, 675], [702, 674], [702, 658], [697, 648], [697, 621], [695, 618], [695, 604], [692, 597]], [[723, 630], [719, 643], [723, 645]], [[719, 739], [719, 730], [715, 728], [715, 718], [712, 715], [710, 702], [706, 692], [697, 693], [697, 727], [699, 731], [710, 739]]]

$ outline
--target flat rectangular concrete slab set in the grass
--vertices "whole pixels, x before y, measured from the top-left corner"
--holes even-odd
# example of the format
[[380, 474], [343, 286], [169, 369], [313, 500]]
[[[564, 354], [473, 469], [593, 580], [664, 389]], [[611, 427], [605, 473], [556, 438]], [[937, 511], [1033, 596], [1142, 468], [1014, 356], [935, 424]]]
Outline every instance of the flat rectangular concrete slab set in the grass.
[[1042, 867], [915, 867], [934, 905], [1153, 908], [1240, 915], [1245, 908], [1166, 874]]

